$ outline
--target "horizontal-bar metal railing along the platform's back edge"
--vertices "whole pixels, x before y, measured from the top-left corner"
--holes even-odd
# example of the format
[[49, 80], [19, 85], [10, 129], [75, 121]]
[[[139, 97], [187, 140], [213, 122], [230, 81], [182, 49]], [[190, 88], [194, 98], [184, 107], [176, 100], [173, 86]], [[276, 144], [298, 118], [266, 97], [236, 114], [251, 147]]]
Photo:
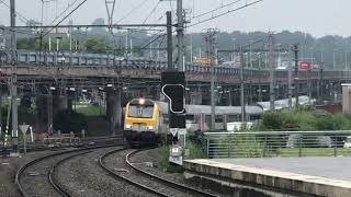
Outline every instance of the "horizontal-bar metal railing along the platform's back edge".
[[351, 130], [205, 132], [205, 136], [208, 158], [351, 157]]

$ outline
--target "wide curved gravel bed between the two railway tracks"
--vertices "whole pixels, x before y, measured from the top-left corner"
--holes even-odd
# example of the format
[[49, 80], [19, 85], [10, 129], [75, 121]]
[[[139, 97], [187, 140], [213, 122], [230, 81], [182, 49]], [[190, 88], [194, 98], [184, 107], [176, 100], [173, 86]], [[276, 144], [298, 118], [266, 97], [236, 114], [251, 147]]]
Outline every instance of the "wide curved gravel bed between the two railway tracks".
[[77, 197], [154, 196], [123, 181], [112, 178], [100, 167], [99, 157], [114, 149], [117, 148], [95, 150], [63, 163], [58, 167], [58, 182]]

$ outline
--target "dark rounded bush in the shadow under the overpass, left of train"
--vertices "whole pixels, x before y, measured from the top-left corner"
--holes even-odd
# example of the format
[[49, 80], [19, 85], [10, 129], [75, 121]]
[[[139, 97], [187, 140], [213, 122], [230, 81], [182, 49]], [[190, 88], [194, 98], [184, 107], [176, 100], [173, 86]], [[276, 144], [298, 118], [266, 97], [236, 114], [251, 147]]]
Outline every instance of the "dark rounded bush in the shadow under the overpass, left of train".
[[73, 111], [61, 111], [54, 117], [54, 129], [61, 130], [61, 132], [79, 132], [82, 129], [87, 130], [88, 121], [83, 114]]

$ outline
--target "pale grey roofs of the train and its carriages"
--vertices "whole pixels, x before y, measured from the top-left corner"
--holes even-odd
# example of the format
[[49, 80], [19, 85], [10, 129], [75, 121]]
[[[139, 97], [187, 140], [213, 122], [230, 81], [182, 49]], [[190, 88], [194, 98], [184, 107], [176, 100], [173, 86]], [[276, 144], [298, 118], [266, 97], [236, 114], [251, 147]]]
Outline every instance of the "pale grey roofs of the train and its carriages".
[[[166, 102], [156, 102], [159, 106], [159, 111], [162, 114], [168, 114], [168, 103]], [[259, 106], [246, 106], [246, 113], [249, 115], [260, 115], [263, 113], [262, 108]], [[216, 115], [240, 115], [240, 106], [216, 106]], [[186, 105], [186, 114], [197, 115], [205, 114], [211, 115], [211, 105]]]

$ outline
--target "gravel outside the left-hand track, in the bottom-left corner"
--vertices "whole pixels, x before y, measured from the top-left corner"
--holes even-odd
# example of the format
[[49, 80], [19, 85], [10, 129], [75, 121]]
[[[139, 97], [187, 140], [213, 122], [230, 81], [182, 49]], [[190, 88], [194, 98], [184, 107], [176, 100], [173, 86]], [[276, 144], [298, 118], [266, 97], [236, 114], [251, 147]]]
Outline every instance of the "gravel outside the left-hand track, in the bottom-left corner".
[[52, 153], [54, 153], [54, 151], [39, 151], [21, 154], [20, 158], [0, 158], [0, 196], [20, 196], [18, 187], [14, 184], [14, 177], [18, 170], [34, 159]]

